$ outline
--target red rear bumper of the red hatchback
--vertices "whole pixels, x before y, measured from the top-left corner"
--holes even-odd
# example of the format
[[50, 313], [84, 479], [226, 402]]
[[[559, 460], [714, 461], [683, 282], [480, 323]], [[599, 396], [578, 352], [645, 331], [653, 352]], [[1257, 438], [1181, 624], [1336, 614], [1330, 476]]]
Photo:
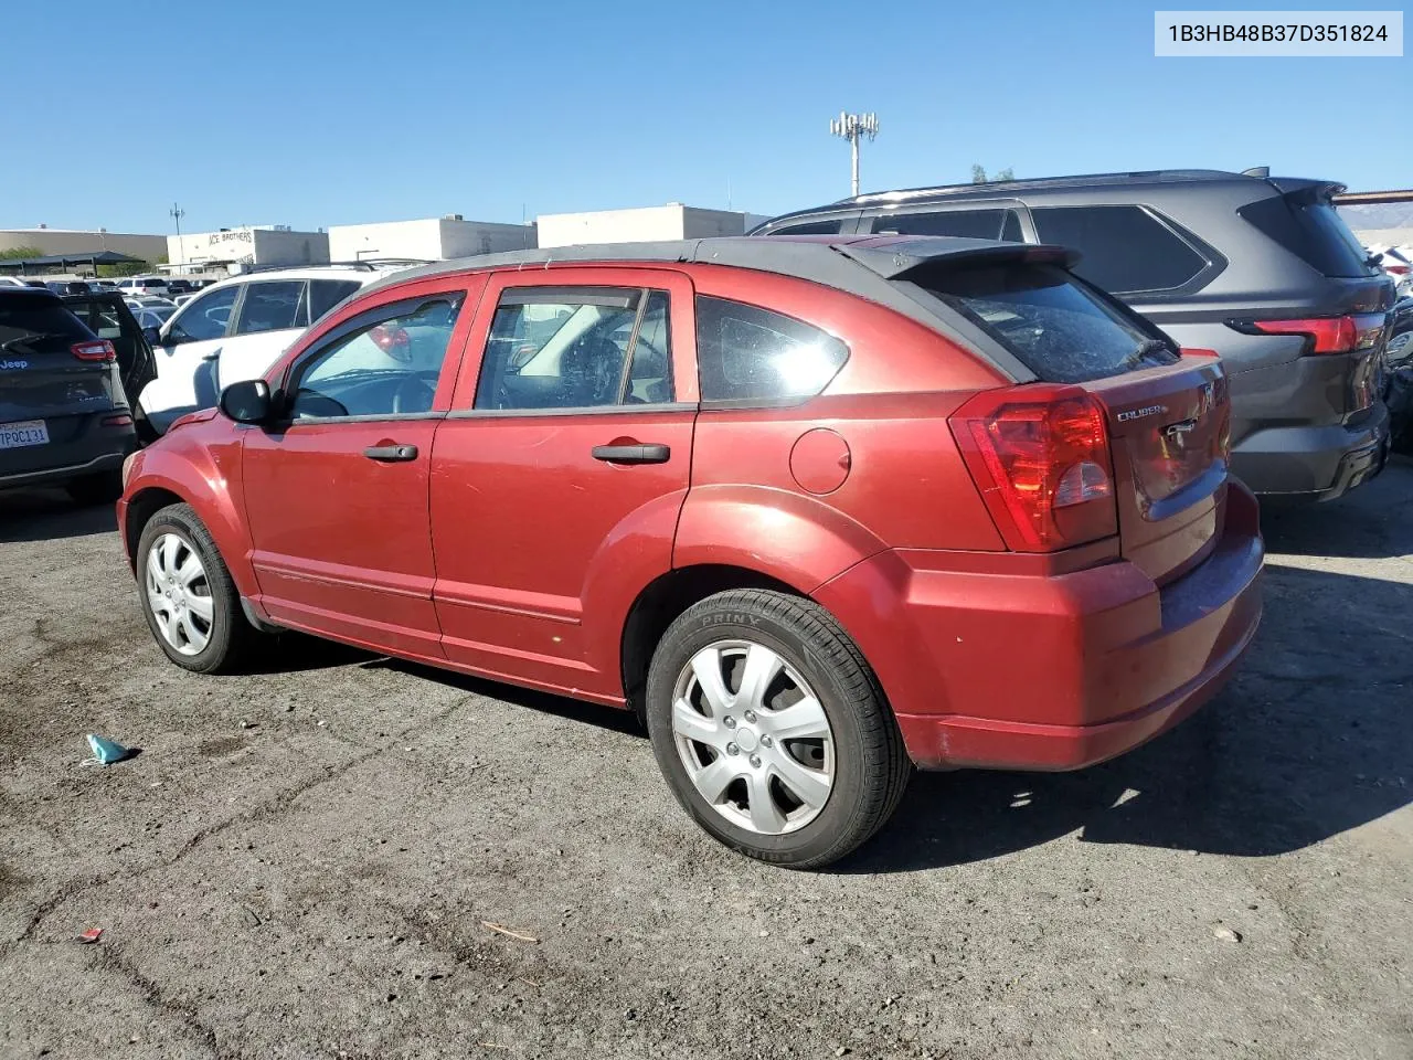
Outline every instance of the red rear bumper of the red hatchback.
[[[978, 575], [916, 555], [889, 570], [892, 553], [815, 598], [861, 642], [918, 766], [1081, 769], [1171, 728], [1231, 676], [1260, 622], [1258, 524], [1232, 483], [1211, 555], [1161, 588], [1122, 560]], [[875, 630], [849, 609], [876, 609], [890, 582], [904, 601]]]

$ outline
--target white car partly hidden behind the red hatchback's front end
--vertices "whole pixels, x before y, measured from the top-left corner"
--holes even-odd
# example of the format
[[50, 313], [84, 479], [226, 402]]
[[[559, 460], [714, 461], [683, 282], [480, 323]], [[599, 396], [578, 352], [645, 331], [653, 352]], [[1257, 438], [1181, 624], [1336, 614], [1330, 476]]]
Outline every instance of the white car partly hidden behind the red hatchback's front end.
[[304, 329], [394, 269], [304, 266], [243, 273], [196, 293], [153, 342], [157, 379], [138, 397], [164, 434], [174, 420], [216, 404], [223, 387], [259, 379]]

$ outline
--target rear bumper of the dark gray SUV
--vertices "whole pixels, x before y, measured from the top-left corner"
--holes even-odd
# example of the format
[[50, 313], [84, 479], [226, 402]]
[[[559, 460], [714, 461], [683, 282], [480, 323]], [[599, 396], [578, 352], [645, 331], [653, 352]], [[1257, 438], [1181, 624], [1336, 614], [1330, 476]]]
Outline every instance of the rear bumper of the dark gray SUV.
[[1381, 400], [1358, 427], [1258, 428], [1232, 449], [1232, 473], [1262, 496], [1334, 500], [1379, 473], [1388, 445], [1389, 410]]

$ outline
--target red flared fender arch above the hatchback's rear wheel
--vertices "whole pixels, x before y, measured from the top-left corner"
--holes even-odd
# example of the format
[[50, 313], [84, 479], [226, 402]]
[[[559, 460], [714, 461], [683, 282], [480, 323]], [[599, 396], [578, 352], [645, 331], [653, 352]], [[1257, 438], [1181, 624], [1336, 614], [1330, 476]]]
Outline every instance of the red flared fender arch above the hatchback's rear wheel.
[[808, 595], [885, 547], [815, 497], [769, 486], [694, 486], [677, 524], [673, 567], [742, 567]]

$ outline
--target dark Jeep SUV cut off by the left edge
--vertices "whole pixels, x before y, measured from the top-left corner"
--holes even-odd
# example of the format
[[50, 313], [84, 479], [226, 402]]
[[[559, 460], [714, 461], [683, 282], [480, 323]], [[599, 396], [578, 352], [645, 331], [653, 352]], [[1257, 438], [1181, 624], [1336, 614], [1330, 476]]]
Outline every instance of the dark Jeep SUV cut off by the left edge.
[[112, 502], [136, 447], [113, 343], [52, 291], [0, 287], [0, 488]]

